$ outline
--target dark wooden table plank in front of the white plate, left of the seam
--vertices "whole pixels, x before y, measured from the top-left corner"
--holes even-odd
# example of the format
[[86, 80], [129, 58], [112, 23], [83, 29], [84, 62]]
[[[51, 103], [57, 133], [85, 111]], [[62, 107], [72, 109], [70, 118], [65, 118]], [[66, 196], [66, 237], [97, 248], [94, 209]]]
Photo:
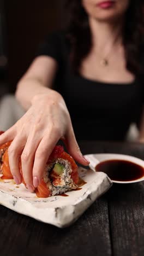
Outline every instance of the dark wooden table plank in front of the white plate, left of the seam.
[[111, 255], [104, 197], [66, 229], [38, 222], [3, 206], [0, 207], [0, 219], [1, 255]]

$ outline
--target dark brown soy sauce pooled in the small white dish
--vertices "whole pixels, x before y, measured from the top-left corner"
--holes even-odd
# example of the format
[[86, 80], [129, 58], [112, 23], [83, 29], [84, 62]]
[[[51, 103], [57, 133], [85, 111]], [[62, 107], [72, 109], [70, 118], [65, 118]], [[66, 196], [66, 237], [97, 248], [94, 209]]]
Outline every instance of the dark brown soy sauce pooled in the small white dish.
[[144, 176], [144, 168], [127, 160], [106, 160], [100, 162], [95, 170], [105, 172], [113, 181], [135, 181]]

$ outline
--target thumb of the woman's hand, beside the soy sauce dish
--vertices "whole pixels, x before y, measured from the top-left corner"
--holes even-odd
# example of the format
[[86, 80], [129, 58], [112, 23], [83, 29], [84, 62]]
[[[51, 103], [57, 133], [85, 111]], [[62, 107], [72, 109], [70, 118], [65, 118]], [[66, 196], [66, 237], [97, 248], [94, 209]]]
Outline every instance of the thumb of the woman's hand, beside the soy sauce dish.
[[81, 153], [72, 125], [70, 129], [68, 129], [68, 132], [66, 133], [63, 141], [68, 149], [69, 154], [75, 159], [75, 161], [85, 166], [89, 165], [89, 161]]

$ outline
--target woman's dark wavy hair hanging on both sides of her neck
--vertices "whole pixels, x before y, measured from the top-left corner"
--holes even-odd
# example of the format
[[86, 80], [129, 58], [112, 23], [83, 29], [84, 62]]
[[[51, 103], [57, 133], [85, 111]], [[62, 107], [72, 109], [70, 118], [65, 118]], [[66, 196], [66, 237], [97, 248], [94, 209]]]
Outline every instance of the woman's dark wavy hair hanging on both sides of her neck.
[[[65, 8], [69, 19], [67, 38], [71, 44], [71, 66], [75, 72], [79, 73], [81, 61], [92, 47], [88, 15], [82, 6], [82, 0], [66, 0]], [[141, 64], [141, 53], [142, 50], [144, 51], [143, 39], [144, 3], [143, 0], [130, 0], [123, 27], [123, 45], [127, 69], [135, 75], [139, 75], [143, 71]]]

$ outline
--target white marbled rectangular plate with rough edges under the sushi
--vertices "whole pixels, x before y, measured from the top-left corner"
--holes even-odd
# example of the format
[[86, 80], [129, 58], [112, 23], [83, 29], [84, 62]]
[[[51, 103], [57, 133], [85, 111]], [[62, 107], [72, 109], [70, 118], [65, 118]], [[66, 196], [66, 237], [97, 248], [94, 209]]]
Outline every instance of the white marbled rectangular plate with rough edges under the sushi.
[[29, 193], [23, 184], [16, 185], [11, 179], [1, 179], [0, 204], [41, 222], [64, 228], [74, 223], [112, 184], [105, 173], [96, 173], [81, 167], [79, 176], [87, 182], [81, 190], [67, 192], [67, 197], [51, 196], [46, 199]]

